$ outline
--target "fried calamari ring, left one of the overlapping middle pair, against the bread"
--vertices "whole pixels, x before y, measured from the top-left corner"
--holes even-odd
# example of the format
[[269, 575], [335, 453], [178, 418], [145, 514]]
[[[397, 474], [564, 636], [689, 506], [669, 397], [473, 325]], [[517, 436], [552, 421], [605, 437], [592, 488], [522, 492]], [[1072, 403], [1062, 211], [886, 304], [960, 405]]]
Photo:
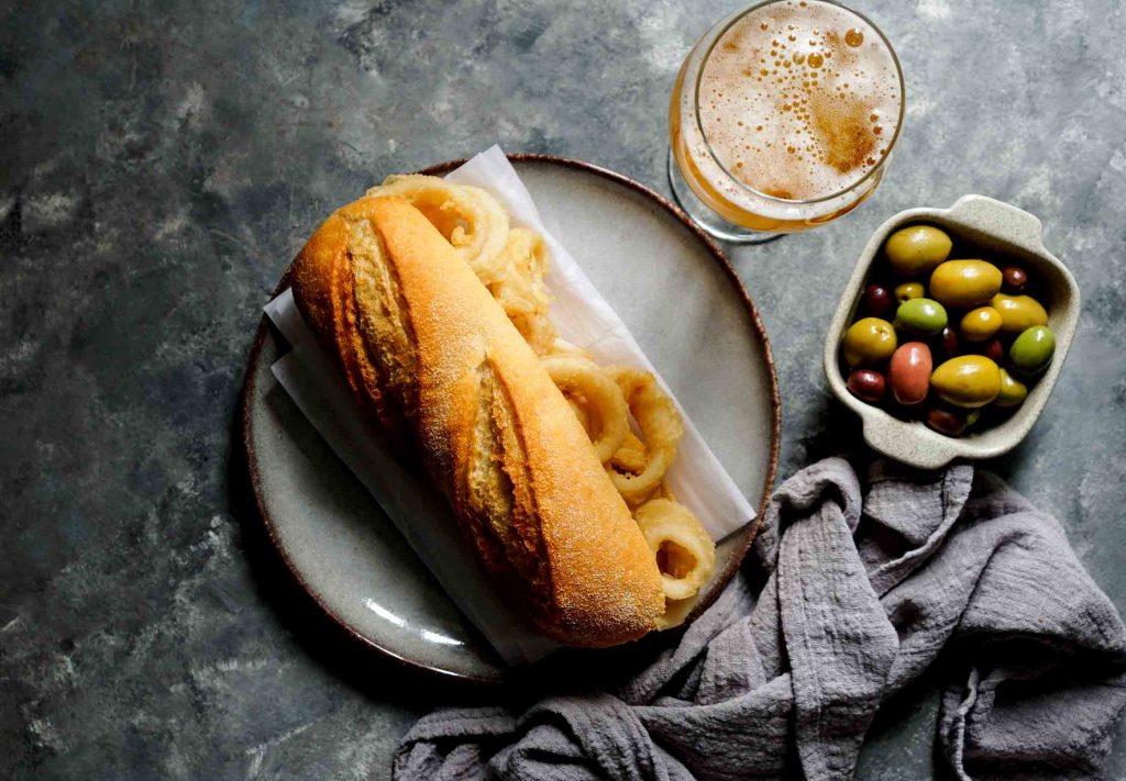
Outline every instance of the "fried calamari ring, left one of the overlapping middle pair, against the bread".
[[543, 365], [564, 396], [582, 403], [587, 413], [587, 425], [583, 428], [590, 436], [598, 460], [605, 464], [622, 445], [629, 427], [622, 388], [584, 358], [548, 356], [543, 359]]

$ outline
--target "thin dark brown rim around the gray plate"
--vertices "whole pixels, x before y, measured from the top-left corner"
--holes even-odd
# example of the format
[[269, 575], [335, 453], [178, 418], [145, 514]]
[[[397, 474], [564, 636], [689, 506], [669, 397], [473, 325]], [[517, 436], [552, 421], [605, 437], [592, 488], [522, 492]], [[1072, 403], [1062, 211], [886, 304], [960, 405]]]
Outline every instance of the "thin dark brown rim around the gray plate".
[[[736, 555], [732, 556], [731, 562], [727, 564], [724, 571], [720, 573], [720, 575], [715, 578], [713, 587], [709, 591], [709, 593], [704, 599], [701, 599], [699, 603], [696, 604], [692, 611], [688, 614], [688, 618], [685, 619], [685, 623], [687, 625], [694, 621], [700, 613], [707, 610], [713, 602], [715, 602], [715, 600], [720, 596], [723, 590], [731, 582], [731, 578], [735, 576], [736, 572], [739, 572], [739, 567], [742, 565], [743, 559], [747, 557], [747, 551], [750, 549], [751, 542], [754, 540], [754, 537], [759, 531], [759, 527], [762, 523], [762, 518], [767, 511], [767, 505], [770, 502], [770, 495], [774, 492], [774, 483], [778, 469], [778, 454], [779, 454], [779, 448], [781, 446], [781, 397], [778, 391], [778, 374], [775, 367], [774, 353], [770, 350], [770, 340], [767, 336], [766, 326], [762, 324], [762, 318], [759, 316], [759, 311], [754, 306], [754, 302], [751, 300], [750, 294], [747, 291], [747, 288], [743, 286], [742, 280], [735, 272], [734, 267], [731, 264], [731, 261], [727, 260], [726, 255], [723, 254], [723, 251], [720, 249], [720, 246], [715, 243], [712, 236], [709, 236], [698, 225], [696, 225], [696, 223], [694, 223], [679, 206], [673, 204], [664, 196], [660, 195], [659, 192], [655, 192], [645, 185], [642, 185], [641, 182], [631, 179], [629, 177], [617, 173], [615, 171], [610, 171], [609, 169], [596, 165], [593, 163], [588, 163], [582, 160], [575, 160], [573, 158], [561, 158], [553, 154], [539, 154], [539, 153], [526, 153], [526, 152], [525, 153], [517, 152], [508, 154], [507, 156], [512, 162], [561, 165], [563, 168], [570, 168], [579, 171], [584, 171], [588, 173], [593, 173], [596, 176], [602, 177], [604, 179], [608, 179], [617, 185], [627, 187], [641, 194], [642, 196], [645, 196], [646, 198], [655, 203], [658, 206], [663, 208], [665, 212], [668, 212], [670, 215], [676, 217], [704, 244], [704, 246], [707, 249], [712, 258], [720, 264], [720, 268], [722, 268], [723, 271], [726, 273], [727, 280], [731, 282], [731, 285], [739, 293], [740, 297], [743, 299], [743, 304], [745, 305], [748, 314], [750, 315], [753, 334], [759, 340], [759, 344], [762, 349], [763, 359], [766, 360], [767, 368], [769, 369], [768, 376], [770, 380], [770, 407], [772, 411], [772, 420], [770, 427], [770, 464], [767, 467], [767, 477], [766, 481], [763, 482], [762, 496], [759, 500], [758, 513], [754, 518], [754, 522], [749, 524], [747, 529], [738, 532], [740, 537], [740, 544]], [[464, 164], [466, 160], [467, 160], [466, 158], [459, 158], [457, 160], [449, 160], [446, 162], [436, 163], [434, 165], [420, 170], [419, 173], [440, 176], [443, 173], [448, 173], [458, 165]], [[277, 296], [286, 288], [289, 281], [291, 269], [292, 264], [287, 267], [285, 273], [282, 275], [282, 278], [278, 280], [277, 286], [274, 288], [274, 293], [270, 295], [270, 298]], [[301, 585], [302, 590], [306, 594], [309, 594], [309, 596], [313, 600], [316, 607], [333, 623], [336, 623], [337, 627], [342, 629], [347, 635], [351, 636], [363, 645], [374, 650], [377, 650], [381, 654], [387, 656], [388, 658], [394, 659], [395, 662], [413, 670], [426, 671], [428, 673], [436, 673], [459, 681], [472, 681], [474, 683], [493, 684], [493, 685], [506, 683], [511, 676], [502, 675], [500, 677], [484, 677], [481, 675], [473, 675], [470, 673], [446, 670], [445, 667], [426, 664], [425, 662], [419, 662], [418, 659], [403, 656], [401, 653], [392, 648], [388, 648], [384, 645], [381, 645], [378, 641], [364, 635], [358, 629], [348, 623], [342, 617], [336, 613], [316, 593], [314, 593], [314, 591], [310, 587], [309, 583], [305, 582], [305, 578], [302, 575], [301, 571], [297, 568], [293, 559], [289, 557], [289, 554], [286, 550], [285, 546], [282, 545], [278, 538], [277, 527], [275, 524], [274, 518], [270, 515], [270, 512], [267, 509], [266, 497], [261, 485], [261, 478], [259, 476], [258, 454], [254, 449], [251, 400], [254, 397], [256, 379], [254, 379], [254, 372], [251, 370], [251, 367], [258, 363], [259, 357], [262, 352], [262, 349], [265, 348], [266, 336], [268, 333], [269, 333], [269, 321], [263, 314], [259, 320], [258, 330], [254, 334], [254, 341], [250, 348], [250, 353], [247, 358], [247, 365], [244, 367], [245, 379], [243, 380], [239, 409], [240, 409], [240, 414], [242, 416], [242, 427], [241, 427], [242, 447], [245, 456], [247, 470], [250, 477], [251, 491], [254, 494], [254, 505], [258, 508], [258, 514], [261, 517], [262, 523], [266, 527], [266, 531], [269, 536], [270, 544], [274, 546], [275, 550], [282, 557], [282, 560], [285, 563], [286, 568]]]

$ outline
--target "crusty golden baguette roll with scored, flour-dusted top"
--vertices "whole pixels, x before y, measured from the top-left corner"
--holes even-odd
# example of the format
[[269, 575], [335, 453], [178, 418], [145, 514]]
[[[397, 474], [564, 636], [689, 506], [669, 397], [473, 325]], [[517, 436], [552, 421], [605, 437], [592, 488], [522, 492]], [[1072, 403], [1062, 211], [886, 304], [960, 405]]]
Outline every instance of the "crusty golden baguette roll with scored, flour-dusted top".
[[397, 197], [345, 206], [292, 280], [354, 394], [421, 457], [507, 600], [570, 645], [656, 626], [656, 562], [586, 431], [421, 212]]

